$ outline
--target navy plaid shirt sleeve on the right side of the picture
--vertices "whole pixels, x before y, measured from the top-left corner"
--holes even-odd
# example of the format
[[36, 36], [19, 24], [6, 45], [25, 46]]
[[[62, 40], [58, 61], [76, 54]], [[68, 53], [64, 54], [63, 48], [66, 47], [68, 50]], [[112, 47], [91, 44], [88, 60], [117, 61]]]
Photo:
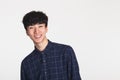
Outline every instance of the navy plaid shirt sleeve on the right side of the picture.
[[69, 80], [81, 80], [79, 73], [79, 65], [76, 59], [75, 52], [72, 47], [68, 47], [66, 50], [68, 55], [68, 77]]

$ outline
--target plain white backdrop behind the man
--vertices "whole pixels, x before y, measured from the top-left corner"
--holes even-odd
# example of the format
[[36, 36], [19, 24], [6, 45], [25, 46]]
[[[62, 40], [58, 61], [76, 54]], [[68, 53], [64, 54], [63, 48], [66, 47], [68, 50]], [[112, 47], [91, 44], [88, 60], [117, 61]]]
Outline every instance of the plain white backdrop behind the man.
[[0, 0], [0, 80], [20, 80], [32, 10], [48, 15], [48, 39], [73, 47], [83, 80], [120, 80], [120, 0]]

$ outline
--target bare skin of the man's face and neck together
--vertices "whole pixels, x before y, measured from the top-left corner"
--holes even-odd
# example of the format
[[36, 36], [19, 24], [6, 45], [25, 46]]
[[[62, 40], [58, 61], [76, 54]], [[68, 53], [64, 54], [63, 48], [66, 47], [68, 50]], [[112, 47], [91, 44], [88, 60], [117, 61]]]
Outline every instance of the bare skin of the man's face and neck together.
[[47, 31], [48, 28], [44, 23], [27, 27], [27, 35], [31, 38], [36, 48], [40, 51], [43, 51], [48, 44], [48, 39], [46, 37]]

